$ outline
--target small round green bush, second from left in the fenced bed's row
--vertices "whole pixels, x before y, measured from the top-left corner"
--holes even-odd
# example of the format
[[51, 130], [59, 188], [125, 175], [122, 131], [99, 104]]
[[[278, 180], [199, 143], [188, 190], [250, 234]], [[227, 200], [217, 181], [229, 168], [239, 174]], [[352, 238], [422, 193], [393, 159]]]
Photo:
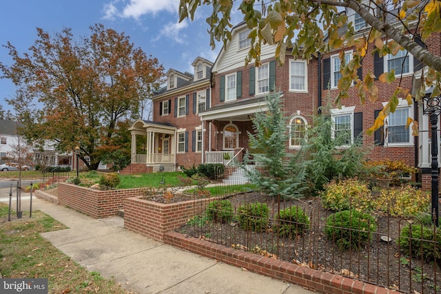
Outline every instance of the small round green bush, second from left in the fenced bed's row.
[[240, 227], [251, 231], [265, 231], [268, 226], [269, 209], [267, 204], [255, 202], [240, 206], [237, 210]]

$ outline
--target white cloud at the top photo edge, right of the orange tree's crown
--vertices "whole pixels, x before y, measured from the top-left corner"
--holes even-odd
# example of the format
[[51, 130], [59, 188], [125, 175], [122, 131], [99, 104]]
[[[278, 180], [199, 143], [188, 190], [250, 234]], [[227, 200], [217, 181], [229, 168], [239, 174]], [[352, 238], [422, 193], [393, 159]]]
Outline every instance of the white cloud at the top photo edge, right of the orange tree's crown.
[[[179, 0], [128, 0], [124, 1], [123, 6], [118, 9], [116, 4], [120, 0], [114, 0], [105, 4], [105, 19], [114, 19], [114, 17], [139, 19], [144, 14], [156, 14], [161, 11], [177, 13]], [[119, 5], [121, 6], [121, 5]]]

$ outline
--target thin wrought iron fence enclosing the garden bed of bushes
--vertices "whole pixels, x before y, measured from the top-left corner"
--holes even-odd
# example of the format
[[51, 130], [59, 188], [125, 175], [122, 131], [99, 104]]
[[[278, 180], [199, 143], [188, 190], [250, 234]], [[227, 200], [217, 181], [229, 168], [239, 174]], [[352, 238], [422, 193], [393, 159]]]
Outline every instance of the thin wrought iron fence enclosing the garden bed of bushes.
[[341, 221], [319, 198], [271, 198], [231, 184], [216, 187], [229, 204], [198, 207], [181, 233], [405, 293], [441, 292], [441, 235], [427, 221], [355, 210]]

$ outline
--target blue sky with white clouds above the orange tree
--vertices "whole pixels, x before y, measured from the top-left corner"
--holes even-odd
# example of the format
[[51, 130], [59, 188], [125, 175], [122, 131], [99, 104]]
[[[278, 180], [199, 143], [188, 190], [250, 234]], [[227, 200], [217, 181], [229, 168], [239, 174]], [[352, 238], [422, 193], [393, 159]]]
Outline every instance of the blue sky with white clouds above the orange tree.
[[[209, 8], [198, 9], [194, 21], [178, 23], [179, 0], [3, 0], [0, 2], [0, 61], [11, 65], [8, 41], [22, 55], [37, 39], [36, 28], [53, 36], [71, 28], [74, 38], [90, 36], [91, 25], [124, 32], [134, 46], [156, 57], [165, 72], [170, 68], [193, 72], [197, 56], [215, 61], [221, 44], [212, 50], [205, 19]], [[234, 17], [234, 15], [233, 15]], [[237, 23], [240, 16], [237, 15]], [[0, 103], [10, 109], [5, 98], [12, 98], [15, 86], [0, 79]]]

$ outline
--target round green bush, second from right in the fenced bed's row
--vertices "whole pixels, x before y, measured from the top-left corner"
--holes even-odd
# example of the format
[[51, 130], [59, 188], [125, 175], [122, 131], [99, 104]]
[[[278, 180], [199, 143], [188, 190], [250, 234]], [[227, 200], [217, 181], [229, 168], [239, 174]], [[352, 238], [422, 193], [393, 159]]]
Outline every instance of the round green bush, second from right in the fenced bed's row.
[[334, 240], [341, 250], [347, 250], [369, 243], [371, 232], [376, 229], [373, 216], [351, 209], [328, 216], [325, 233], [328, 240]]

